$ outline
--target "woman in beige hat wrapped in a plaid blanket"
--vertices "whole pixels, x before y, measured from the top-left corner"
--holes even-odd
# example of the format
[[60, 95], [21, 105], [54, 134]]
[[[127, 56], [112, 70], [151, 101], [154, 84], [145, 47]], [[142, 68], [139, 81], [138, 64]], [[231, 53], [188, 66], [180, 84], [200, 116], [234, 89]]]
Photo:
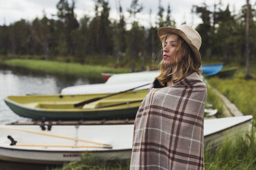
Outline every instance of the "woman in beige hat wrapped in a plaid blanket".
[[136, 114], [130, 169], [204, 169], [201, 37], [195, 29], [161, 27], [163, 60]]

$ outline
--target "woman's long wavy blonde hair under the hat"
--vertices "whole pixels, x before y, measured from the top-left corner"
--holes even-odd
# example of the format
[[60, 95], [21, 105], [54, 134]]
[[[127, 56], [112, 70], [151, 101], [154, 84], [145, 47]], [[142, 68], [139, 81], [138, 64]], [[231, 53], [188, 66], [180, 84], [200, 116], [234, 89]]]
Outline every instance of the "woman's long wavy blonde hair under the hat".
[[[162, 49], [164, 49], [164, 42], [167, 40], [167, 36], [171, 34], [164, 34], [160, 36], [162, 42]], [[177, 34], [175, 34], [177, 35]], [[178, 36], [178, 35], [177, 35]], [[177, 54], [181, 51], [182, 60], [178, 62]], [[169, 80], [171, 80], [172, 75], [175, 75], [173, 78], [173, 83], [179, 82], [185, 77], [189, 76], [191, 73], [196, 72], [201, 74], [200, 63], [195, 60], [195, 56], [189, 45], [186, 41], [183, 40], [180, 36], [177, 39], [177, 48], [174, 53], [175, 63], [171, 66], [164, 64], [164, 60], [160, 62], [160, 75], [156, 77], [159, 80], [162, 86], [165, 86]]]

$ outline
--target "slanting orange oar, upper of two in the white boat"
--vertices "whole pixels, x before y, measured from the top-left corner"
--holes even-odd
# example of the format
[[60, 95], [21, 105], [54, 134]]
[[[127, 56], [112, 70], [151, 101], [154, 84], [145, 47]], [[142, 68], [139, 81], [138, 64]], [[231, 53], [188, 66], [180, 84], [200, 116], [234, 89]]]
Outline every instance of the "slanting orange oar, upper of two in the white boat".
[[[7, 127], [7, 126], [0, 125], [0, 128], [9, 129], [9, 130], [17, 130], [17, 131], [21, 131], [21, 132], [27, 132], [27, 133], [30, 133], [30, 134], [39, 134], [39, 135], [44, 135], [44, 136], [52, 136], [52, 137], [55, 137], [55, 138], [65, 138], [65, 139], [68, 139], [68, 140], [75, 141], [75, 138], [70, 138], [70, 137], [66, 137], [66, 136], [59, 136], [59, 135], [55, 135], [55, 134], [46, 134], [46, 133], [43, 133], [43, 132], [34, 132], [34, 131], [30, 131], [30, 130], [23, 130], [23, 129], [19, 129], [19, 128], [15, 128], [15, 127]], [[109, 144], [97, 143], [97, 142], [94, 142], [94, 141], [86, 141], [86, 140], [83, 140], [83, 139], [77, 139], [76, 141], [84, 142], [84, 143], [93, 143], [93, 144], [96, 144], [96, 145], [102, 145], [103, 148], [112, 148], [112, 146], [109, 145]]]

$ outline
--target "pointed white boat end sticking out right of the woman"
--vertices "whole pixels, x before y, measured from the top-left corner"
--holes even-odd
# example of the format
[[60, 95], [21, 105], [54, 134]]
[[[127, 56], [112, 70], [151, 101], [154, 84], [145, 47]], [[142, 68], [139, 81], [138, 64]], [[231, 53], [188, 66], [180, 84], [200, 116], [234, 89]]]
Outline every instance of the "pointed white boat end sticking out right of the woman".
[[235, 138], [237, 134], [248, 131], [253, 116], [225, 117], [204, 120], [204, 147], [222, 145], [226, 138]]

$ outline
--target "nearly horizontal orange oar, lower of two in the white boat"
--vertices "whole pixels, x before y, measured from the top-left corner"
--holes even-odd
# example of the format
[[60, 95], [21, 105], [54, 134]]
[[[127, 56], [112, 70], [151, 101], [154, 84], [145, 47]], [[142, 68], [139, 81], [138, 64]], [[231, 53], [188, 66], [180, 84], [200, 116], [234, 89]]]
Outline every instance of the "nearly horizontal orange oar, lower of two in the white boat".
[[[9, 144], [0, 144], [0, 145], [9, 145]], [[17, 146], [17, 147], [71, 147], [71, 148], [106, 148], [102, 146], [76, 146], [74, 147], [73, 145], [41, 145], [41, 144], [15, 144], [12, 146]], [[109, 149], [109, 147], [107, 147]], [[111, 148], [110, 148], [111, 149]]]

